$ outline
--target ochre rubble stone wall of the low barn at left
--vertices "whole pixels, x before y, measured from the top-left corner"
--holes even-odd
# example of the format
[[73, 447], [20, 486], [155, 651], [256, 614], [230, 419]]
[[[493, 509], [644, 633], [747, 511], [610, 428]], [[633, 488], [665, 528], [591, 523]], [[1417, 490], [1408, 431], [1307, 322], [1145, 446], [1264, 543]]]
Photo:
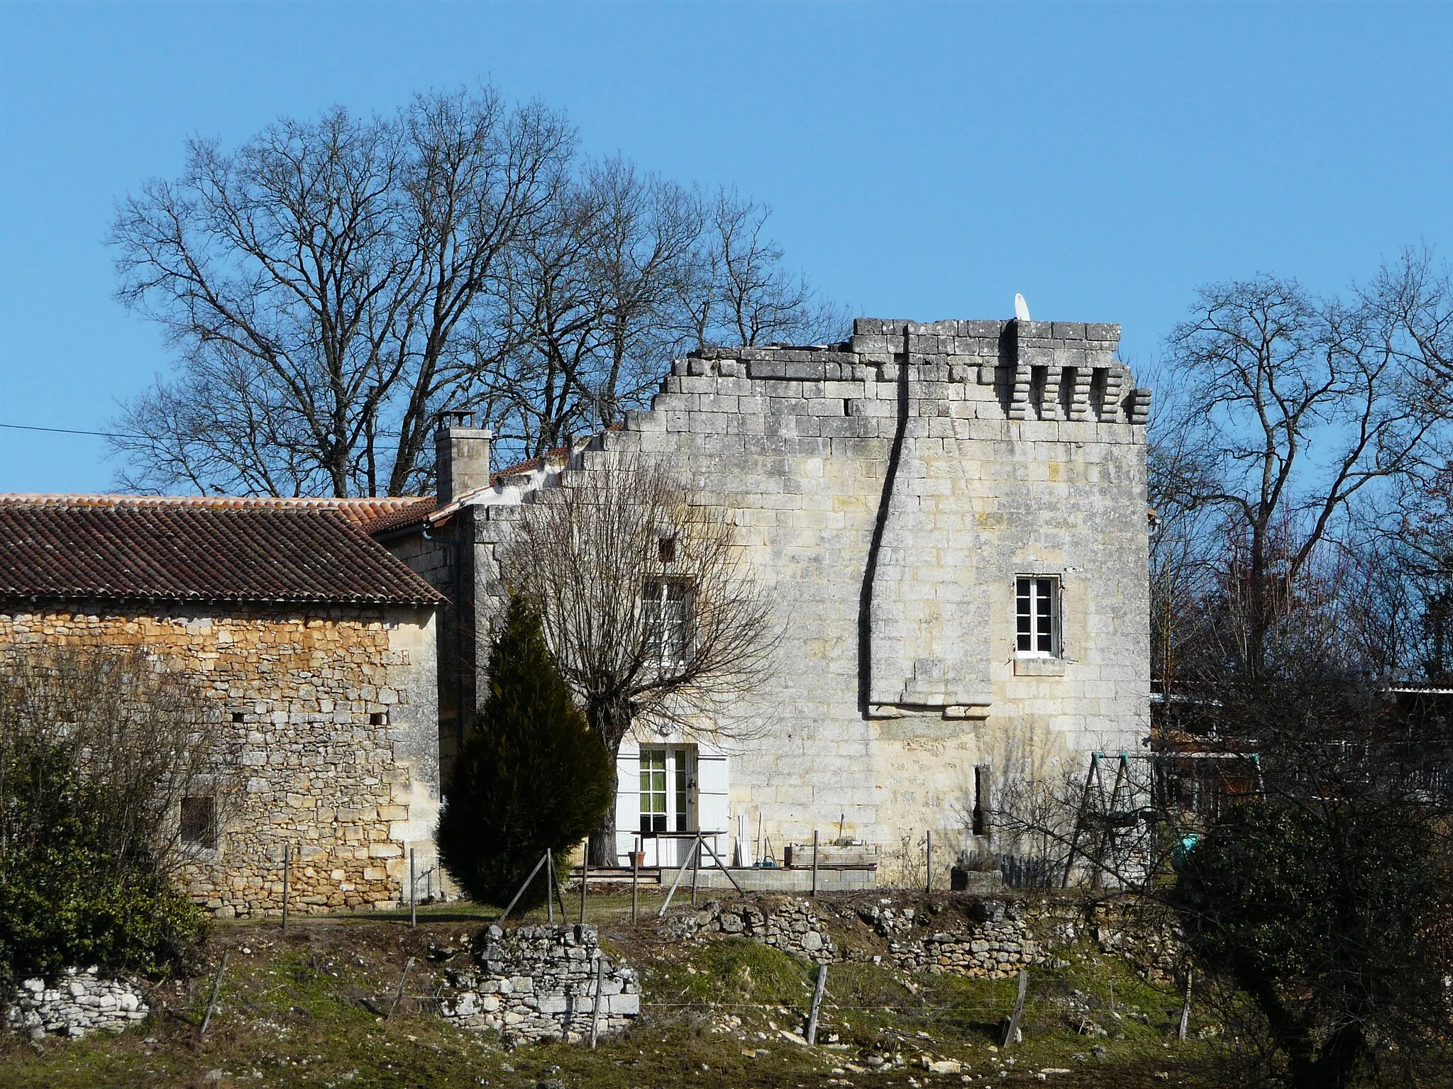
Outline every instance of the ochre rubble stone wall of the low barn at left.
[[[230, 733], [215, 849], [182, 881], [212, 913], [388, 908], [407, 900], [408, 851], [434, 862], [439, 810], [430, 610], [230, 605], [128, 610], [76, 603], [0, 613], [0, 648], [142, 646], [203, 687]], [[437, 881], [436, 881], [437, 884]]]

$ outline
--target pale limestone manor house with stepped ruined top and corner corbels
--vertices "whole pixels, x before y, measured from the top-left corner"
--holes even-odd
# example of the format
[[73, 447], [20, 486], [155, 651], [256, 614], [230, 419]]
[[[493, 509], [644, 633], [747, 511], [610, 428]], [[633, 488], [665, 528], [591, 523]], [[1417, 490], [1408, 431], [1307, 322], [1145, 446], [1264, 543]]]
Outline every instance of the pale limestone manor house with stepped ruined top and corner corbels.
[[[997, 791], [1148, 733], [1151, 392], [1117, 341], [1107, 324], [865, 318], [844, 344], [712, 348], [622, 427], [504, 472], [488, 431], [449, 421], [437, 499], [371, 526], [449, 598], [445, 761], [522, 504], [625, 452], [729, 515], [785, 636], [735, 709], [753, 741], [626, 742], [619, 857], [663, 826], [716, 833], [744, 864], [814, 831], [883, 857], [933, 831], [944, 867], [991, 847]], [[647, 864], [680, 851], [644, 847]]]

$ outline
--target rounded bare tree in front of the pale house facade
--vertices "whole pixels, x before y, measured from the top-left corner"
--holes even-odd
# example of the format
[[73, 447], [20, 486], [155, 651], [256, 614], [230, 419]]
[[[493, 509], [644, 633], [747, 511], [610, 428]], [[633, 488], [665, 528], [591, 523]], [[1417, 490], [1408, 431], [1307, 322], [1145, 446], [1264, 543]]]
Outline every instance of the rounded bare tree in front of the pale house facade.
[[[722, 511], [631, 454], [568, 470], [501, 556], [612, 759], [634, 729], [741, 738], [734, 704], [769, 675], [773, 608]], [[591, 861], [615, 861], [615, 806]]]

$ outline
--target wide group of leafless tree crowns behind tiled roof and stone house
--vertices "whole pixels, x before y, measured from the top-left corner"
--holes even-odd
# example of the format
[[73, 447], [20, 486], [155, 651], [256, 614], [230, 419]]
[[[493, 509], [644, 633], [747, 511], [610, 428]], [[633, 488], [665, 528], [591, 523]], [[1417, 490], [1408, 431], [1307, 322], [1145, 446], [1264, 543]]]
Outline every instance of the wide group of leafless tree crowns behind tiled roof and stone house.
[[414, 492], [445, 407], [535, 454], [639, 405], [683, 348], [841, 334], [764, 206], [577, 148], [491, 87], [190, 141], [112, 227], [119, 298], [180, 356], [118, 421], [121, 484]]

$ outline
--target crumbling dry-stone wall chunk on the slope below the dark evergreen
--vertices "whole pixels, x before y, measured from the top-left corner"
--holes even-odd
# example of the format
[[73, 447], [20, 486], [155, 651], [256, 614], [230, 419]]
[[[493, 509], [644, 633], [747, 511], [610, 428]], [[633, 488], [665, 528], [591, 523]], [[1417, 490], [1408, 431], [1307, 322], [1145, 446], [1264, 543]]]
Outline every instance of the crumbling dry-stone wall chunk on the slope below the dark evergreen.
[[461, 1028], [491, 1028], [507, 1043], [580, 1041], [590, 1035], [600, 973], [599, 1032], [618, 1032], [641, 1012], [634, 968], [600, 951], [594, 926], [487, 926], [472, 964], [446, 970], [443, 1015]]

